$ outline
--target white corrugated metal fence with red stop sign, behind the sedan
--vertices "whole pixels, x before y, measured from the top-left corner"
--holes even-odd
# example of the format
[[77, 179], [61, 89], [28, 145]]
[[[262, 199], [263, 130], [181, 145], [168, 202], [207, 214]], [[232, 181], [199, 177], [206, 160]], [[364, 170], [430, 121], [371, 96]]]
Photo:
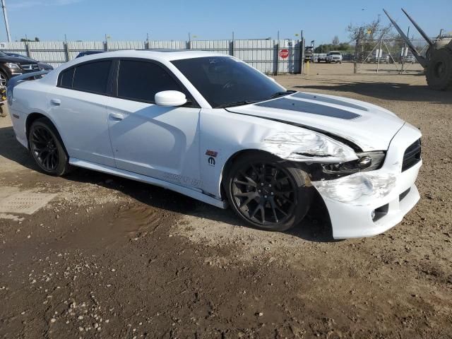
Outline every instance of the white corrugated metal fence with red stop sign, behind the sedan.
[[300, 40], [71, 41], [0, 42], [0, 50], [57, 67], [90, 50], [192, 49], [233, 55], [268, 74], [300, 73]]

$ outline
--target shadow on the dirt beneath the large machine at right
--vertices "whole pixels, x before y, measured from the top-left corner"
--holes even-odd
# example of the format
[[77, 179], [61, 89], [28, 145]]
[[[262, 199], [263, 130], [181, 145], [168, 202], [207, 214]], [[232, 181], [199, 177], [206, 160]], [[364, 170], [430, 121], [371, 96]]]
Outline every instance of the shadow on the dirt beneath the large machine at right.
[[451, 104], [451, 90], [439, 91], [431, 90], [427, 85], [408, 85], [407, 83], [379, 82], [378, 79], [369, 79], [369, 81], [351, 81], [343, 82], [335, 79], [319, 81], [316, 79], [316, 85], [309, 85], [309, 80], [304, 81], [304, 85], [295, 85], [292, 88], [307, 92], [316, 90], [337, 91], [341, 93], [357, 93], [369, 97], [375, 97], [382, 100], [403, 100], [413, 102], [432, 102], [435, 104]]

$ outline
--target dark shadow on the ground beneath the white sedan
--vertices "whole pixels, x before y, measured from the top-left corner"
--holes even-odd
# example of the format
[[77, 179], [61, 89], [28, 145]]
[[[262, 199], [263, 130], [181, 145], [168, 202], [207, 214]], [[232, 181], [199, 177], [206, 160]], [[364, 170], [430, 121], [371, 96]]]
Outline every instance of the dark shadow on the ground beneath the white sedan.
[[[0, 128], [0, 156], [28, 169], [39, 170], [28, 150], [16, 141], [12, 127]], [[74, 168], [64, 179], [114, 189], [136, 201], [161, 210], [168, 210], [181, 215], [194, 215], [198, 218], [224, 222], [233, 226], [251, 227], [239, 219], [231, 208], [223, 210], [158, 186], [82, 168]], [[323, 201], [316, 197], [313, 206], [314, 208], [311, 208], [310, 213], [302, 223], [286, 233], [309, 242], [334, 242], [329, 218], [319, 217], [328, 215]]]

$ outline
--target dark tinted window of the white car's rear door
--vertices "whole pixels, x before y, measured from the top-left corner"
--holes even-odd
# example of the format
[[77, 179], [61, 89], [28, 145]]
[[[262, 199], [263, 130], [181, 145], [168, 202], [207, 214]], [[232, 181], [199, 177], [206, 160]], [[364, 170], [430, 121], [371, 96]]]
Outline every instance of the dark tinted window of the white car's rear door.
[[[76, 66], [75, 73], [73, 74], [72, 88], [74, 90], [106, 94], [111, 65], [112, 61], [108, 60]], [[62, 81], [64, 81], [64, 77]]]

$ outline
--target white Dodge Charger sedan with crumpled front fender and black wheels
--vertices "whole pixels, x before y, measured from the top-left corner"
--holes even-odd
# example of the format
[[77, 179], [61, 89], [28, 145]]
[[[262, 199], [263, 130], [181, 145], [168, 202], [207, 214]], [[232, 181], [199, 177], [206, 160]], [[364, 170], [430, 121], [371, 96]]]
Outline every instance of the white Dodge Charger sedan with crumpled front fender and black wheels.
[[25, 77], [8, 86], [9, 112], [47, 174], [85, 167], [229, 202], [266, 230], [297, 225], [317, 195], [336, 239], [384, 232], [420, 198], [418, 129], [366, 102], [285, 90], [234, 57], [105, 52]]

